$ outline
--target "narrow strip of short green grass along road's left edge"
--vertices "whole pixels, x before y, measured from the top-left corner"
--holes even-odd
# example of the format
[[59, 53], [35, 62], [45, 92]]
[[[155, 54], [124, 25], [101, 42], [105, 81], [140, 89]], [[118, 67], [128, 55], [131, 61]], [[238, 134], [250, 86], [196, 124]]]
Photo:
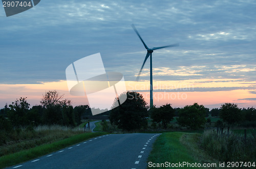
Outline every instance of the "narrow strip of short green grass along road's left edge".
[[97, 133], [84, 133], [84, 134], [78, 134], [60, 141], [56, 141], [50, 144], [43, 144], [41, 146], [29, 149], [29, 150], [24, 150], [20, 151], [14, 154], [9, 154], [6, 156], [2, 156], [0, 158], [0, 168], [4, 168], [7, 166], [15, 165], [21, 162], [25, 162], [31, 159], [34, 159], [36, 157], [46, 155], [48, 153], [52, 153], [54, 151], [57, 151], [59, 149], [66, 148], [68, 146], [71, 146], [75, 143], [81, 142], [83, 140], [100, 136], [100, 135], [105, 135], [107, 133], [104, 132], [97, 132]]

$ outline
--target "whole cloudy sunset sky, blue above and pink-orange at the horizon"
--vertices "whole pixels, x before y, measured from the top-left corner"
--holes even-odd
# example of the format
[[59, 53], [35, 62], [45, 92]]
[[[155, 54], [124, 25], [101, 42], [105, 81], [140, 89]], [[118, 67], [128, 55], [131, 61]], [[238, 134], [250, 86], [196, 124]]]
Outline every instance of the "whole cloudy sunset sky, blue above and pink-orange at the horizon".
[[[153, 53], [154, 104], [210, 109], [256, 102], [256, 1], [41, 1], [6, 17], [0, 8], [0, 108], [20, 97], [39, 105], [57, 90], [73, 105], [66, 68], [100, 53], [105, 71], [123, 74], [126, 90], [149, 103], [150, 62], [136, 77], [148, 47]], [[103, 104], [104, 101], [102, 101]]]

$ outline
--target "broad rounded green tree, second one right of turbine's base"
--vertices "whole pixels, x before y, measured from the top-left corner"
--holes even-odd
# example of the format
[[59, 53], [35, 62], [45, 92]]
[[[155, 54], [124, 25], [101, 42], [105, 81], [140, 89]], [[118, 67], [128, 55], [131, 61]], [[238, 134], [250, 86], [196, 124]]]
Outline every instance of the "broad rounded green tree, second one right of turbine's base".
[[198, 129], [206, 122], [205, 107], [203, 105], [198, 105], [197, 103], [185, 106], [180, 109], [176, 119], [178, 124], [181, 126], [185, 126], [190, 129]]

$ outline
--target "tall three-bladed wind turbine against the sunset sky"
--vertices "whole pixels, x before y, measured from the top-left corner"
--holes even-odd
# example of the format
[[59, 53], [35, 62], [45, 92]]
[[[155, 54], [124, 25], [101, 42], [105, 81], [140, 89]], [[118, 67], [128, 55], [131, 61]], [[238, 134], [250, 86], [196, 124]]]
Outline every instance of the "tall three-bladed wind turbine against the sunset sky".
[[153, 107], [153, 73], [152, 73], [152, 53], [155, 51], [155, 50], [159, 50], [159, 49], [162, 49], [162, 48], [165, 48], [165, 47], [174, 47], [174, 46], [179, 46], [179, 43], [176, 43], [176, 44], [171, 44], [171, 45], [167, 45], [167, 46], [161, 46], [161, 47], [153, 47], [153, 48], [148, 48], [146, 43], [142, 40], [142, 38], [140, 37], [140, 34], [139, 32], [136, 30], [135, 26], [132, 25], [134, 31], [136, 32], [136, 34], [139, 36], [141, 42], [143, 43], [145, 49], [147, 50], [147, 53], [146, 53], [146, 57], [144, 59], [144, 62], [141, 66], [141, 69], [139, 71], [139, 74], [136, 78], [136, 81], [139, 80], [139, 77], [140, 77], [140, 74], [141, 74], [141, 71], [142, 71], [142, 68], [147, 60], [148, 57], [150, 57], [150, 108]]

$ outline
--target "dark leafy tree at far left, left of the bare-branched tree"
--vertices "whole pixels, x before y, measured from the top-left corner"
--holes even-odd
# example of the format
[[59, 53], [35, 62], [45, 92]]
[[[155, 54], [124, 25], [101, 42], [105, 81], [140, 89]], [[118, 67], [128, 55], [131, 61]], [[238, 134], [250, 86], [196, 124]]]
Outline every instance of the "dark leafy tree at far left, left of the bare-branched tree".
[[16, 101], [9, 105], [10, 110], [7, 112], [7, 116], [15, 127], [26, 126], [29, 123], [26, 115], [29, 111], [30, 104], [26, 99], [16, 99]]

